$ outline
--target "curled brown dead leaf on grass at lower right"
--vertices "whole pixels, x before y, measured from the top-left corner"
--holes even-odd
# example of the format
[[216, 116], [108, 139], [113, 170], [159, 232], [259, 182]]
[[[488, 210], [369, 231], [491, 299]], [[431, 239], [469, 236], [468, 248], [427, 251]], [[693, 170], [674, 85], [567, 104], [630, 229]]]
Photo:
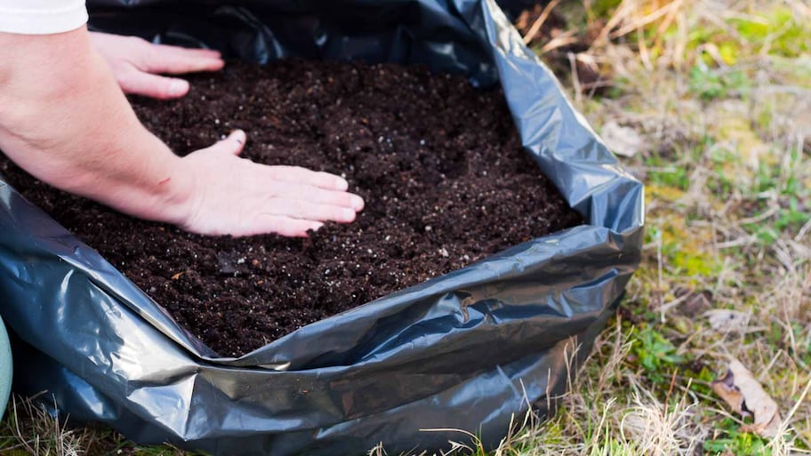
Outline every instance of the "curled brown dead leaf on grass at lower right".
[[742, 428], [759, 436], [774, 437], [783, 420], [777, 403], [755, 380], [749, 369], [740, 361], [732, 359], [727, 374], [711, 383], [712, 391], [743, 417], [753, 417], [754, 423]]

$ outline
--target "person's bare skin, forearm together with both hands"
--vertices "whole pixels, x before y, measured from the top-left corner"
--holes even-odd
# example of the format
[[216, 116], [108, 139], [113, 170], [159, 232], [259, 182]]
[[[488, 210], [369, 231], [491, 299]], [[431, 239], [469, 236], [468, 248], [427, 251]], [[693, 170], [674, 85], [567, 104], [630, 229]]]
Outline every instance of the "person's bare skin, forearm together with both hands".
[[[221, 68], [219, 55], [199, 53], [189, 59], [197, 63], [172, 67], [170, 60], [187, 62], [177, 53], [163, 59], [169, 50], [153, 52], [136, 39], [132, 54], [116, 58], [120, 43], [101, 40], [86, 28], [47, 36], [0, 33], [0, 149], [36, 178], [205, 235], [307, 236], [327, 220], [355, 220], [363, 209], [338, 176], [240, 158], [244, 132], [175, 156], [141, 125], [118, 84], [159, 98], [181, 96], [188, 85], [177, 90], [177, 79], [151, 73]], [[149, 51], [139, 57], [138, 46]], [[196, 67], [200, 60], [207, 61], [204, 68]]]

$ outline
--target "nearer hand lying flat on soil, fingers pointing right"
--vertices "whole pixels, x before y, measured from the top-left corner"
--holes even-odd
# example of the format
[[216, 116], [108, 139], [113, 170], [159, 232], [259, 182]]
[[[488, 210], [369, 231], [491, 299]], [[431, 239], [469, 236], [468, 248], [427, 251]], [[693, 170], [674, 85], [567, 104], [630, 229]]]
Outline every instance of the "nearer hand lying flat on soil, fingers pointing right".
[[327, 220], [349, 223], [364, 207], [346, 180], [295, 166], [256, 164], [238, 155], [245, 132], [177, 161], [181, 228], [203, 235], [307, 236]]

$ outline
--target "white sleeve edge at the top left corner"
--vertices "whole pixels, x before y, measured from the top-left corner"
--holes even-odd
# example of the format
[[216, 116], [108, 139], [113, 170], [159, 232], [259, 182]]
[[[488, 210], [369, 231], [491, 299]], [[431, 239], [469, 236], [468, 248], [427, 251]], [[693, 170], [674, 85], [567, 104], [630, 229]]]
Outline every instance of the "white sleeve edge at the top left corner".
[[87, 22], [84, 0], [0, 0], [0, 32], [50, 35]]

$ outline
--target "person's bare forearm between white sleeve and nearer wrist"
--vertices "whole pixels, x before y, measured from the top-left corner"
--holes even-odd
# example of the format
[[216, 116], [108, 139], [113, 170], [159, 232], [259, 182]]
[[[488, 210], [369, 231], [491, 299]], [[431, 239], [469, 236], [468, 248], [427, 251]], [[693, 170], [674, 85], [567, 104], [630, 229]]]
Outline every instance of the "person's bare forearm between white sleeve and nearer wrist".
[[55, 187], [178, 222], [180, 158], [138, 121], [84, 29], [0, 34], [0, 148]]

